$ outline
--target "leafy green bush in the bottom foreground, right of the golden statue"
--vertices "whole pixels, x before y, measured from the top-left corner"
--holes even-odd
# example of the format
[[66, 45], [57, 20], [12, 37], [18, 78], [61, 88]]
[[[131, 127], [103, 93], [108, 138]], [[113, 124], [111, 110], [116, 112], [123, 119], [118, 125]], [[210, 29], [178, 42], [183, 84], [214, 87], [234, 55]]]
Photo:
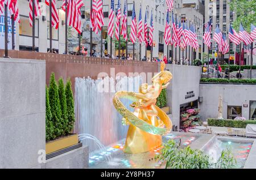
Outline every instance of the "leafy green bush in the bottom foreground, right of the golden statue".
[[230, 149], [222, 151], [217, 162], [210, 162], [207, 154], [199, 149], [191, 149], [189, 146], [180, 148], [174, 140], [169, 140], [160, 153], [155, 156], [161, 165], [166, 162], [166, 169], [209, 169], [209, 168], [235, 168], [236, 159]]

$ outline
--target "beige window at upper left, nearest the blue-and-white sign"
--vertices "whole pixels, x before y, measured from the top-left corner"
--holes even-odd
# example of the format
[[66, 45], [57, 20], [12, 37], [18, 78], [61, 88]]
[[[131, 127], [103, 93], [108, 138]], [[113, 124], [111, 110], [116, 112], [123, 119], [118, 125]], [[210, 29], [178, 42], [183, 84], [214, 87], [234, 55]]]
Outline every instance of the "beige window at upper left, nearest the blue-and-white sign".
[[[38, 19], [35, 20], [35, 37], [38, 37], [39, 23]], [[32, 27], [30, 27], [30, 20], [28, 16], [20, 15], [19, 23], [19, 35], [21, 36], [32, 36]]]

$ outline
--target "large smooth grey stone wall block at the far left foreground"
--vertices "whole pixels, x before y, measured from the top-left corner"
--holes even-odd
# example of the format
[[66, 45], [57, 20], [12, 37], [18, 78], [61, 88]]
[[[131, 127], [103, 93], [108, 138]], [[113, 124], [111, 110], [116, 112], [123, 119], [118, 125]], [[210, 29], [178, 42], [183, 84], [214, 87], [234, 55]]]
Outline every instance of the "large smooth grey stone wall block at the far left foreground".
[[0, 58], [0, 168], [40, 168], [46, 148], [46, 62]]

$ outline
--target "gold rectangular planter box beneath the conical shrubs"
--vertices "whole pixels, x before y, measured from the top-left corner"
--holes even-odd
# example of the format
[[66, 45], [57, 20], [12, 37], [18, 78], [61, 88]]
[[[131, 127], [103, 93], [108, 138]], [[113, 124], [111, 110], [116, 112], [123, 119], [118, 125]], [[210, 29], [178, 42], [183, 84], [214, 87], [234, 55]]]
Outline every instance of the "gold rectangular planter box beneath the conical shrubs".
[[64, 138], [60, 138], [57, 140], [53, 140], [52, 142], [46, 143], [46, 154], [59, 151], [60, 149], [64, 149], [79, 143], [78, 135], [69, 135]]

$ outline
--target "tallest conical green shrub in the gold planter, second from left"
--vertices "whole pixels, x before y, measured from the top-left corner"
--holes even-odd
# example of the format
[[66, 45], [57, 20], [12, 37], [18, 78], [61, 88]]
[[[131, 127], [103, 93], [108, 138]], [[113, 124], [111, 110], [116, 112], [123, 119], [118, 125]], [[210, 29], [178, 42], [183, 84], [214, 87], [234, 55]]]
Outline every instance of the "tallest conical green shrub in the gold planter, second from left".
[[51, 74], [51, 79], [49, 83], [49, 104], [51, 107], [54, 134], [56, 137], [59, 137], [62, 134], [63, 128], [61, 125], [61, 109], [60, 109], [58, 87], [55, 81], [55, 74], [53, 72]]

